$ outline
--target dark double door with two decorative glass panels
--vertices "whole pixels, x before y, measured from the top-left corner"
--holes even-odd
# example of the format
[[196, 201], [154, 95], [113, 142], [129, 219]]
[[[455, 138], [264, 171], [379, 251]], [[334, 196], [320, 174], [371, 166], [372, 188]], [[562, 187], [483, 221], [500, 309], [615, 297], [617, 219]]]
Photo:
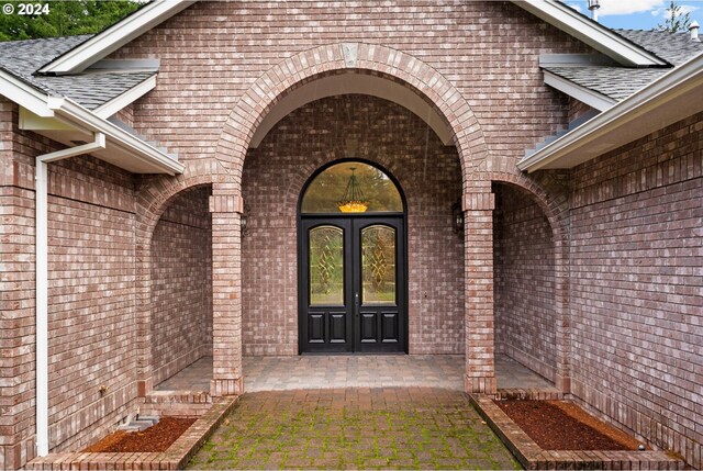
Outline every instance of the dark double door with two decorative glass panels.
[[402, 216], [303, 217], [300, 351], [405, 352]]

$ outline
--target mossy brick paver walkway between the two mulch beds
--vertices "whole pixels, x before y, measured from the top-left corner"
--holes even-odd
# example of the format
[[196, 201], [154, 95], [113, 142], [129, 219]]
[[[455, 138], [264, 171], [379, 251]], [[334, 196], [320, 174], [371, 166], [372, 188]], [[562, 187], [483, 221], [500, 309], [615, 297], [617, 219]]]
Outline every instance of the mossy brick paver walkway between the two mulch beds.
[[247, 393], [189, 469], [520, 469], [460, 391]]

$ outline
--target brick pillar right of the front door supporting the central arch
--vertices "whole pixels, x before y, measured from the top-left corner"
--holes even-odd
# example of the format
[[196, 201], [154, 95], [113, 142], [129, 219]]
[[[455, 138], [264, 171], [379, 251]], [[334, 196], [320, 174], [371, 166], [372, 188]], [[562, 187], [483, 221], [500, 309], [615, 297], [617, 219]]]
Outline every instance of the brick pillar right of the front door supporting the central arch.
[[495, 394], [493, 325], [493, 210], [495, 195], [464, 194], [466, 374], [469, 393]]

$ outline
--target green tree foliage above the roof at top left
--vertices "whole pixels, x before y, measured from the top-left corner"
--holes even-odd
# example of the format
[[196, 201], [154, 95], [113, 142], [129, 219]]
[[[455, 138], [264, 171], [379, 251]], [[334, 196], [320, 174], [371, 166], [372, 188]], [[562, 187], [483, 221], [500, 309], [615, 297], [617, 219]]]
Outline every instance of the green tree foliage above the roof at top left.
[[[26, 14], [21, 4], [42, 7], [35, 14]], [[70, 0], [3, 3], [0, 14], [0, 41], [35, 40], [40, 37], [75, 36], [99, 33], [138, 10], [143, 2], [132, 0]], [[11, 5], [12, 8], [10, 9]], [[9, 13], [12, 11], [12, 13]], [[25, 13], [25, 14], [21, 14]]]

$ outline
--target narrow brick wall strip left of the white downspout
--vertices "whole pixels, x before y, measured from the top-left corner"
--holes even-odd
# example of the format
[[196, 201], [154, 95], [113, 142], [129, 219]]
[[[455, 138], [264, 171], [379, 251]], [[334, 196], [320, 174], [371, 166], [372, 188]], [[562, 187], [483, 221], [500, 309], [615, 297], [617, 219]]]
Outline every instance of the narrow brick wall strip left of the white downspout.
[[34, 169], [13, 159], [32, 152], [16, 120], [0, 97], [0, 469], [34, 456]]

